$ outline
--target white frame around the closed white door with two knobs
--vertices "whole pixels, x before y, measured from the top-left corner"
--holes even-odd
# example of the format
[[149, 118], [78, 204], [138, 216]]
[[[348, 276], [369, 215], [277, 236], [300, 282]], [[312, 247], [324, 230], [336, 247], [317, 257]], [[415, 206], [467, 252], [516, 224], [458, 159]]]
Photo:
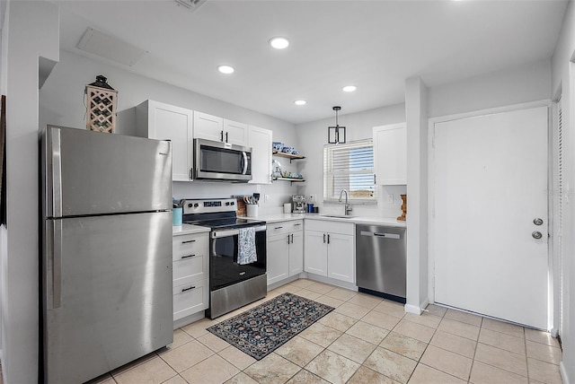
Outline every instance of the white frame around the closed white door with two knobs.
[[[485, 115], [492, 115], [502, 112], [510, 112], [520, 109], [532, 109], [536, 107], [547, 107], [548, 121], [547, 121], [547, 136], [548, 136], [548, 155], [547, 155], [547, 190], [553, 190], [553, 108], [552, 100], [535, 100], [526, 103], [512, 104], [503, 107], [496, 107], [491, 109], [480, 109], [470, 112], [457, 113], [453, 115], [439, 116], [429, 118], [428, 125], [428, 292], [429, 303], [435, 303], [435, 238], [438, 229], [435, 225], [435, 125], [447, 121], [458, 120], [462, 118], [477, 118]], [[549, 220], [549, 233], [551, 237], [547, 242], [548, 252], [548, 271], [549, 279], [549, 306], [548, 306], [548, 324], [553, 325], [553, 298], [555, 295], [553, 284], [553, 265], [555, 255], [553, 254], [553, 194], [547, 194], [547, 212]]]

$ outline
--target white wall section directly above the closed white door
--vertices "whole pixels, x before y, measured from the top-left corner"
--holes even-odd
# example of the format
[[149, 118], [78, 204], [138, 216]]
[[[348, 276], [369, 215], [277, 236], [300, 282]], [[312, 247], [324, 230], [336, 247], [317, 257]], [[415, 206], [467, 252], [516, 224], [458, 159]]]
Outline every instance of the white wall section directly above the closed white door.
[[549, 99], [551, 61], [544, 60], [429, 88], [429, 118]]

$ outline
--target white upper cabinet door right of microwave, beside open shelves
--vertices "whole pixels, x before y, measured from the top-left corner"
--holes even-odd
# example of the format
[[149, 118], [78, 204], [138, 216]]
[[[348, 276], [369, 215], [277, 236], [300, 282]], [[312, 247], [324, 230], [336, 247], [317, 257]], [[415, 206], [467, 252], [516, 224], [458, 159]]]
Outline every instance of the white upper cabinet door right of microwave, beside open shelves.
[[271, 184], [271, 142], [270, 129], [249, 128], [248, 146], [252, 147], [252, 184]]

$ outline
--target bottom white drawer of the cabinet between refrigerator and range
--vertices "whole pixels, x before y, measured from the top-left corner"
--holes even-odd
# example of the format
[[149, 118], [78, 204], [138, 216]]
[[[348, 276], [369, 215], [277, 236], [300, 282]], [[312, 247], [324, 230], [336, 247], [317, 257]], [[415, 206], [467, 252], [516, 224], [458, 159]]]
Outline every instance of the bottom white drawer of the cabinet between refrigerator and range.
[[208, 280], [173, 287], [173, 320], [208, 309]]

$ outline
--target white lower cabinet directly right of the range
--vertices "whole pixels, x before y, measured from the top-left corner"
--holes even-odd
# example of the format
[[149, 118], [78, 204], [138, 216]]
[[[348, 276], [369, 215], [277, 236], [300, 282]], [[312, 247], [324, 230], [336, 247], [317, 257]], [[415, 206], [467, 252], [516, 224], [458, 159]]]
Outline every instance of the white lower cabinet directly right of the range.
[[304, 270], [304, 222], [268, 224], [268, 285]]

